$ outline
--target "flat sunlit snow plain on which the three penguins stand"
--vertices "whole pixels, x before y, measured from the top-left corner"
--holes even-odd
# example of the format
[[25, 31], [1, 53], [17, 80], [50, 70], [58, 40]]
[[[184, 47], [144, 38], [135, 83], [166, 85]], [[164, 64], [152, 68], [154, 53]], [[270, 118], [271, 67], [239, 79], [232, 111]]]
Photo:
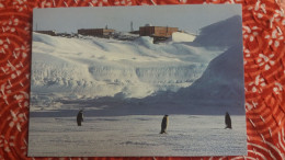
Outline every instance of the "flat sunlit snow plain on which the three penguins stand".
[[159, 134], [162, 116], [31, 118], [29, 156], [152, 157], [247, 155], [246, 116], [170, 115], [168, 134]]

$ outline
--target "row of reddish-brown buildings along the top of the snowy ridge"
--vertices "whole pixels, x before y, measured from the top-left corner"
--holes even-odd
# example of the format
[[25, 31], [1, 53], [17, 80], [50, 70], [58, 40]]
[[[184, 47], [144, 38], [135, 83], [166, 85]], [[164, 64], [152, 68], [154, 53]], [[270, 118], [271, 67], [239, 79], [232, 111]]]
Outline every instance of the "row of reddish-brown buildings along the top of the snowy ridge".
[[[95, 37], [103, 37], [110, 38], [113, 37], [115, 34], [115, 30], [112, 28], [80, 28], [78, 30], [77, 34], [67, 34], [67, 33], [56, 33], [55, 31], [35, 31], [37, 33], [47, 34], [52, 36], [65, 36], [65, 37], [72, 37], [78, 35], [84, 36], [95, 36]], [[132, 31], [130, 34], [136, 34], [139, 36], [150, 36], [153, 37], [153, 43], [158, 43], [161, 41], [166, 41], [171, 37], [173, 32], [179, 32], [178, 27], [169, 27], [169, 26], [140, 26], [138, 31]]]

